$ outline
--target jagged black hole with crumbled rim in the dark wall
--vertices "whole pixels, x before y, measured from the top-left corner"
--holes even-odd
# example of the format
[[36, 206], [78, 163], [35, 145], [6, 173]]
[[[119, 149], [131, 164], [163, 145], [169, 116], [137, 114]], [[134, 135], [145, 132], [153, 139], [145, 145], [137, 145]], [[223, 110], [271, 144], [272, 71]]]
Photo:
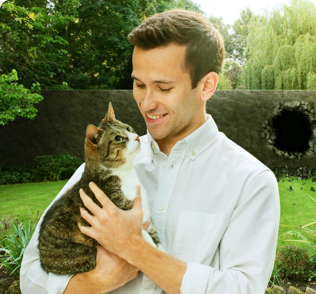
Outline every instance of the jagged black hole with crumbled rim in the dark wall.
[[262, 138], [276, 155], [288, 160], [314, 155], [314, 105], [303, 102], [280, 103], [279, 109], [264, 123]]

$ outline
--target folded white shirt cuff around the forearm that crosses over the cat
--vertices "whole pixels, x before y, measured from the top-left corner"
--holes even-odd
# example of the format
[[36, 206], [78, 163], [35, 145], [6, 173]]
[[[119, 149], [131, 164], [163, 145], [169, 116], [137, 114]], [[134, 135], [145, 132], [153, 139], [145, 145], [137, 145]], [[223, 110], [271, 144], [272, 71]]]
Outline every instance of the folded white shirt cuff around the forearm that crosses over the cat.
[[212, 268], [205, 264], [188, 262], [181, 284], [181, 294], [205, 294]]

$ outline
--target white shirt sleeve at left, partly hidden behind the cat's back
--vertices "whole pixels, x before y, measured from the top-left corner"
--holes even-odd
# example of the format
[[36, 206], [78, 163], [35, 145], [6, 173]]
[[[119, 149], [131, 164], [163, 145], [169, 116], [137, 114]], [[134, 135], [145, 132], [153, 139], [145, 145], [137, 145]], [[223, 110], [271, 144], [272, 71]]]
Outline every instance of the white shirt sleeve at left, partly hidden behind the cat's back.
[[[62, 196], [70, 187], [76, 184], [83, 173], [84, 163], [77, 169], [71, 179], [65, 184], [56, 198], [56, 201]], [[48, 208], [52, 205], [48, 206]], [[48, 209], [47, 208], [47, 209]], [[47, 209], [43, 213], [45, 215]], [[38, 249], [40, 221], [30, 240], [30, 243], [23, 254], [21, 269], [20, 269], [20, 287], [22, 294], [62, 294], [66, 289], [69, 280], [73, 275], [55, 275], [47, 274], [40, 266], [40, 251]]]

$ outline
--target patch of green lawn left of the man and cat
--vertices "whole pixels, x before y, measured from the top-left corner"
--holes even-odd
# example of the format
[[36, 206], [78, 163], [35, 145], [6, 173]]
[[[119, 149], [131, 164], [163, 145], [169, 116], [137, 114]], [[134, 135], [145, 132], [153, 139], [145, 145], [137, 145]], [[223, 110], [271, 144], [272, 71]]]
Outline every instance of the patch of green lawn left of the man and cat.
[[37, 212], [43, 214], [67, 181], [0, 185], [0, 219], [10, 215], [20, 222], [26, 221], [29, 208], [37, 220]]

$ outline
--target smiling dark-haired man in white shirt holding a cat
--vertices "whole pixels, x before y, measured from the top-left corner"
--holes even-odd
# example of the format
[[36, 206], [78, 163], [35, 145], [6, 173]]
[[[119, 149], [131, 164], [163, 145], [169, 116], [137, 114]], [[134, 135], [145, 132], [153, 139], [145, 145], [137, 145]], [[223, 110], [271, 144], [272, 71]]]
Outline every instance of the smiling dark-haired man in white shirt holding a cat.
[[278, 186], [205, 112], [223, 62], [222, 37], [199, 14], [172, 10], [145, 20], [129, 39], [133, 95], [148, 128], [135, 166], [166, 253], [142, 238], [139, 193], [121, 211], [91, 183], [103, 208], [80, 192], [94, 216], [81, 211], [92, 226], [79, 228], [102, 245], [96, 268], [46, 274], [37, 229], [24, 253], [22, 293], [263, 294], [276, 252]]

